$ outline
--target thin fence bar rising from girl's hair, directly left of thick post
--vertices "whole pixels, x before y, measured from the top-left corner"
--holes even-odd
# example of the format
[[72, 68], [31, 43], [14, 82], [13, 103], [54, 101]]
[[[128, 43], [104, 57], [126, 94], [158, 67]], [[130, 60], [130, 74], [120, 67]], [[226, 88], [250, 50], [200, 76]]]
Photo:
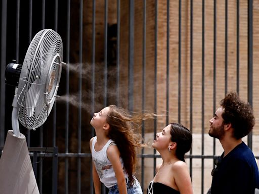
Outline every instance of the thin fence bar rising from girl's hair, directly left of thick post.
[[119, 69], [119, 43], [120, 43], [120, 0], [117, 0], [117, 43], [116, 43], [116, 60], [117, 60], [117, 81], [116, 81], [116, 85], [117, 85], [117, 93], [116, 93], [116, 103], [117, 106], [119, 106], [119, 73], [120, 73], [120, 69]]

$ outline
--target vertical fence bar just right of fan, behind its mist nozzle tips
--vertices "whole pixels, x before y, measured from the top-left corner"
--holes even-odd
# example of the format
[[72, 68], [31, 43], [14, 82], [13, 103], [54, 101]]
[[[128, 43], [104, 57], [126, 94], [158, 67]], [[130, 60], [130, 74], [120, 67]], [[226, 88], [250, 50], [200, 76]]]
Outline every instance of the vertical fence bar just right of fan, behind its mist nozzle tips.
[[[67, 67], [67, 71], [66, 71], [66, 121], [65, 121], [65, 151], [66, 153], [69, 152], [68, 148], [69, 148], [69, 52], [70, 52], [70, 0], [67, 1], [67, 36], [66, 36], [66, 42], [67, 42], [67, 46], [66, 46], [66, 67]], [[65, 193], [68, 194], [68, 167], [69, 167], [69, 163], [68, 163], [68, 158], [65, 158]]]

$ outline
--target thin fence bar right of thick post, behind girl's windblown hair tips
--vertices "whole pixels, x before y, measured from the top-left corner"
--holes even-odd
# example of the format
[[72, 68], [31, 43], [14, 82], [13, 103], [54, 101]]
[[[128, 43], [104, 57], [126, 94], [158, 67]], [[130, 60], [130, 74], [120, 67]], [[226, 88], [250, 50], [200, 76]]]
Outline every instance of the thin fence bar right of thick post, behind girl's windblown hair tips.
[[[146, 0], [143, 0], [143, 52], [142, 52], [142, 111], [146, 109]], [[142, 138], [145, 138], [145, 122], [142, 121]], [[143, 156], [144, 149], [141, 149]], [[141, 185], [144, 185], [144, 158], [141, 157]]]

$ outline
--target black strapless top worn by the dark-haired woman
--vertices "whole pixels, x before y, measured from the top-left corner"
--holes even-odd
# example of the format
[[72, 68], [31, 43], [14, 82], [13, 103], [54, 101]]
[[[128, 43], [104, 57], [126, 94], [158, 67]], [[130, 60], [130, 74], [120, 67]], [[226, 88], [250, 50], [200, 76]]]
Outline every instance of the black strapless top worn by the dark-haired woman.
[[[153, 190], [153, 192], [152, 192]], [[147, 194], [179, 194], [180, 192], [170, 186], [167, 186], [165, 184], [162, 184], [160, 182], [153, 182], [151, 181], [149, 183], [148, 189], [147, 189]]]

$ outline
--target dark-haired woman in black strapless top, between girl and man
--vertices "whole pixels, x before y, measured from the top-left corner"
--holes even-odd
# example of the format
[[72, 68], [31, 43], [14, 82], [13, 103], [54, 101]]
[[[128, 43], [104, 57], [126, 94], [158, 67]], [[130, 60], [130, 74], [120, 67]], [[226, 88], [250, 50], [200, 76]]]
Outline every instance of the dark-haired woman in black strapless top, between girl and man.
[[147, 194], [193, 193], [191, 177], [184, 155], [191, 149], [192, 134], [181, 124], [171, 123], [152, 143], [162, 157], [162, 164], [156, 168], [156, 175], [150, 182]]

